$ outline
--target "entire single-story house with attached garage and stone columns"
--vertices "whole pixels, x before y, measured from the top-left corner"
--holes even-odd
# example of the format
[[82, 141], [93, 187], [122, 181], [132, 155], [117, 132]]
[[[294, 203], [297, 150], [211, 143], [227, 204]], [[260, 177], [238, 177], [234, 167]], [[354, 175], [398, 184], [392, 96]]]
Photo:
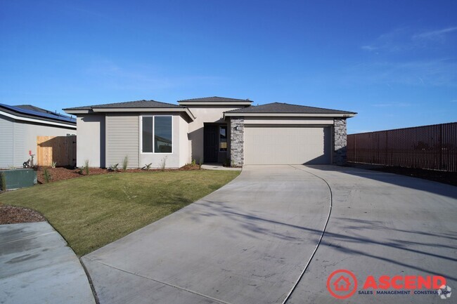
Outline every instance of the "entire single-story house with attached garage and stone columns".
[[342, 164], [346, 119], [355, 112], [286, 103], [252, 106], [251, 100], [195, 98], [179, 105], [155, 100], [64, 109], [77, 116], [77, 166], [129, 167], [165, 159], [178, 168], [205, 163]]

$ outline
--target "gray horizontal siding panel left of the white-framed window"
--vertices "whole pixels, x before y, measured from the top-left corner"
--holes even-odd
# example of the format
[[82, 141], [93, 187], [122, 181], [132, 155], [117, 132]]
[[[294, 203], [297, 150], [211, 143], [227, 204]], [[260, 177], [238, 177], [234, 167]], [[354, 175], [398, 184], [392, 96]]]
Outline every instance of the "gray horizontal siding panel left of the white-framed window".
[[139, 167], [139, 116], [106, 115], [106, 166], [120, 164], [129, 157], [129, 168]]

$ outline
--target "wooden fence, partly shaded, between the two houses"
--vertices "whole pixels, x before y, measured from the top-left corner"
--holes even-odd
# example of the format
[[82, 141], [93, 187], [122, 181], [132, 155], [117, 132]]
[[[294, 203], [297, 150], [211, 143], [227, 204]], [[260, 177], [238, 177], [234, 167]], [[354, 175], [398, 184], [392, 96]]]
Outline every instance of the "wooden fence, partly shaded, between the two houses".
[[76, 136], [37, 136], [37, 165], [76, 166]]

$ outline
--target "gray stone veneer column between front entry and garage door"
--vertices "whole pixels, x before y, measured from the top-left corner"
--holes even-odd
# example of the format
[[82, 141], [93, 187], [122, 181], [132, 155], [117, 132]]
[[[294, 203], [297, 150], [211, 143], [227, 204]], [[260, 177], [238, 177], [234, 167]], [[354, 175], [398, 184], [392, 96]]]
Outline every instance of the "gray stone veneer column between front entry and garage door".
[[245, 119], [230, 119], [230, 161], [232, 166], [243, 166], [245, 161]]

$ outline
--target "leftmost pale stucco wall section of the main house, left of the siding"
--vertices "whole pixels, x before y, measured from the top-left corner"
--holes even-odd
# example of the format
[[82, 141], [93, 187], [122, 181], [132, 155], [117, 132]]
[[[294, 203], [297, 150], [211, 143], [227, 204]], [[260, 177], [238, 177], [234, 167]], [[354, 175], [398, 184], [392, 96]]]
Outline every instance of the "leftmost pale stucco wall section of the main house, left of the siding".
[[104, 168], [105, 164], [105, 114], [81, 114], [77, 120], [76, 166]]

